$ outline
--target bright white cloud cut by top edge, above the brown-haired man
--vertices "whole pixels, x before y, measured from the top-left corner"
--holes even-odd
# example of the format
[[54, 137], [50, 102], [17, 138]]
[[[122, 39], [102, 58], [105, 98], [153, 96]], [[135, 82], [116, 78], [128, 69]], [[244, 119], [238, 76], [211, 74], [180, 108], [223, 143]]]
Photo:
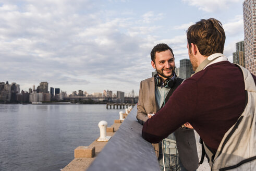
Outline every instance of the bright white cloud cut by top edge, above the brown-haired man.
[[237, 3], [239, 1], [240, 0], [182, 0], [182, 2], [188, 3], [191, 6], [196, 6], [200, 10], [206, 12], [227, 9], [230, 3]]

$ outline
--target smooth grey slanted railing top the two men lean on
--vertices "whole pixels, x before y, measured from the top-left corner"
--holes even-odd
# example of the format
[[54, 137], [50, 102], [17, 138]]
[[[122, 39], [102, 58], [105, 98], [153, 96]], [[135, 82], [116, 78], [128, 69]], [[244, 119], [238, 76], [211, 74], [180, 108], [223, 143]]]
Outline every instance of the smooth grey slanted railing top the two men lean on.
[[160, 170], [152, 144], [141, 137], [142, 125], [138, 123], [136, 115], [137, 106], [128, 114], [88, 171]]

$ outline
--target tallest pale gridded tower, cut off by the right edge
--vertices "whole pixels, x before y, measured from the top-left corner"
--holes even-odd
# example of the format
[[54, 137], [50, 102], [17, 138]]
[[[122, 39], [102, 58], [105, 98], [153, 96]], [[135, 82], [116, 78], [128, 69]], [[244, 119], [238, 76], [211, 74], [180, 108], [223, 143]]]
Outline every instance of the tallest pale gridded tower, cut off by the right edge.
[[245, 31], [245, 66], [256, 75], [256, 1], [245, 0], [242, 3], [243, 27]]

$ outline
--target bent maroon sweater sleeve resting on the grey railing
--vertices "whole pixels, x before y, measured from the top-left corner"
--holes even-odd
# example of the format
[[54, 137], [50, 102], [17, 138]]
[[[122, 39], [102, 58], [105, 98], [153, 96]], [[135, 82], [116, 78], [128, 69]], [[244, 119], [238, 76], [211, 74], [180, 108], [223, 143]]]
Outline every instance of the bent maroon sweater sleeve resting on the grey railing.
[[186, 122], [192, 125], [196, 103], [197, 83], [193, 79], [185, 80], [165, 106], [145, 122], [142, 137], [151, 143], [157, 143]]

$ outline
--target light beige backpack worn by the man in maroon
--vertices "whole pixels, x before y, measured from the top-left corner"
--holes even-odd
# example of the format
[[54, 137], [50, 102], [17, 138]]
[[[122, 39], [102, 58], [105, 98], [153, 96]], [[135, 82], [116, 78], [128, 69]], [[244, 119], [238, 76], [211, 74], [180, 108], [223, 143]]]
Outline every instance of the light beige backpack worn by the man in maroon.
[[256, 86], [251, 73], [239, 67], [245, 81], [246, 107], [225, 133], [215, 155], [203, 143], [212, 171], [256, 170]]

